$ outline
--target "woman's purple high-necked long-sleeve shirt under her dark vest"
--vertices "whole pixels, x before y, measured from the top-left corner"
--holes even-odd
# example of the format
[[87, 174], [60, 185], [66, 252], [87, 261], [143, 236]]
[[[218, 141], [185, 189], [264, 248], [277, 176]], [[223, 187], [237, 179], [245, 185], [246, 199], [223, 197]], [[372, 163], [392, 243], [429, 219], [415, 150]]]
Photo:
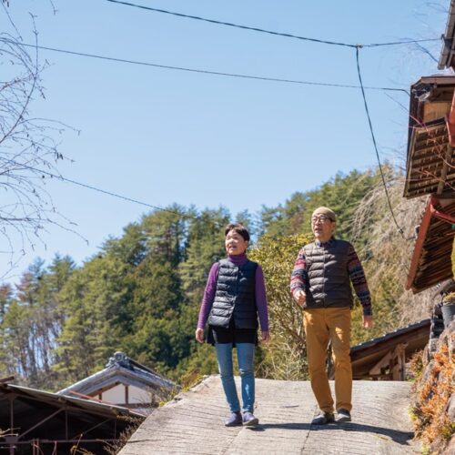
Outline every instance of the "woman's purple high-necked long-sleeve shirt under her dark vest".
[[[247, 263], [248, 258], [246, 254], [228, 256], [230, 260], [236, 266], [243, 266]], [[204, 297], [199, 309], [199, 319], [197, 320], [197, 329], [204, 329], [208, 314], [212, 308], [213, 301], [215, 300], [215, 291], [217, 290], [217, 279], [218, 279], [218, 263], [215, 262], [207, 278], [206, 290], [204, 291]], [[256, 269], [256, 307], [258, 308], [258, 316], [260, 329], [262, 332], [268, 331], [268, 308], [267, 308], [267, 296], [266, 296], [266, 284], [264, 281], [264, 272], [262, 268], [258, 266]]]

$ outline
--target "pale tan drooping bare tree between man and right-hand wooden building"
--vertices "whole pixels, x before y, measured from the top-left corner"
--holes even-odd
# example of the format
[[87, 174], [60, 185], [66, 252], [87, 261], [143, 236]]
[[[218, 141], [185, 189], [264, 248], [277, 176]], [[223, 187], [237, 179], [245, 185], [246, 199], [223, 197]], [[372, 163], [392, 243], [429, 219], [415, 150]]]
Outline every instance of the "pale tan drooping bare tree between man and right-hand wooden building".
[[[391, 320], [396, 329], [428, 318], [434, 291], [430, 289], [413, 295], [404, 289], [416, 240], [415, 228], [420, 225], [427, 199], [402, 197], [404, 177], [391, 172], [387, 176], [390, 205], [402, 234], [391, 216], [386, 192], [379, 182], [360, 202], [353, 221], [353, 236], [354, 239], [365, 238], [367, 234], [367, 245], [359, 251], [359, 256], [363, 259], [373, 295], [393, 298]], [[387, 295], [376, 292], [381, 288], [385, 288]]]

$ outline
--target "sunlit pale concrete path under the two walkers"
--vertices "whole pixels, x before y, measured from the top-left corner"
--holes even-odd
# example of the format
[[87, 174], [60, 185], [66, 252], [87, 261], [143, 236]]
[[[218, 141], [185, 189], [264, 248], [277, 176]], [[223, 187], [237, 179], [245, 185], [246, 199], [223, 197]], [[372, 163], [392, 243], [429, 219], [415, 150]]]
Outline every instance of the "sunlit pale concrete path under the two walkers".
[[309, 425], [317, 411], [309, 382], [256, 379], [258, 428], [226, 428], [223, 390], [211, 376], [150, 415], [119, 453], [420, 453], [412, 441], [409, 393], [407, 382], [354, 381], [353, 421], [315, 427]]

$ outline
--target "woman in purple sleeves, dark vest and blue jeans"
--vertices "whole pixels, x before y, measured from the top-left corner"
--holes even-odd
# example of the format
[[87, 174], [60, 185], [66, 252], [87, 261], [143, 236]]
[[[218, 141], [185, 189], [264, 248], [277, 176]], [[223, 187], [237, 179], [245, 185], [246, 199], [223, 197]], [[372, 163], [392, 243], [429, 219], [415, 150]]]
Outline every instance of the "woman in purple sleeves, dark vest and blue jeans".
[[[255, 378], [254, 351], [258, 345], [258, 317], [262, 341], [267, 342], [268, 308], [262, 268], [247, 258], [249, 234], [240, 224], [225, 229], [227, 258], [212, 265], [199, 310], [196, 339], [204, 342], [208, 321], [207, 342], [217, 350], [221, 383], [231, 412], [227, 427], [254, 426]], [[242, 390], [242, 412], [234, 381], [232, 349], [237, 349]]]

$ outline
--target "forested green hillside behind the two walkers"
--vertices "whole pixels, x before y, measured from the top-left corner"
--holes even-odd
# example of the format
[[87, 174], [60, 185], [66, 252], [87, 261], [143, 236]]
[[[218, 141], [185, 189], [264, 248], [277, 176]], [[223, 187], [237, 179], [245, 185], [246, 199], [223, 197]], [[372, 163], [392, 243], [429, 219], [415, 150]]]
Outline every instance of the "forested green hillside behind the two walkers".
[[403, 235], [379, 173], [352, 171], [260, 213], [236, 217], [223, 207], [177, 205], [152, 212], [80, 267], [69, 257], [36, 259], [18, 285], [0, 288], [0, 377], [56, 390], [104, 368], [116, 350], [183, 384], [216, 371], [213, 349], [197, 346], [194, 330], [210, 265], [224, 256], [223, 227], [237, 219], [254, 235], [249, 254], [262, 264], [268, 286], [272, 342], [258, 349], [258, 374], [305, 379], [305, 340], [288, 277], [320, 205], [338, 213], [338, 237], [358, 249], [373, 293], [375, 329], [360, 329], [358, 306], [353, 341], [419, 319], [425, 296], [404, 293], [403, 278], [421, 202], [403, 201], [400, 176], [386, 171]]

